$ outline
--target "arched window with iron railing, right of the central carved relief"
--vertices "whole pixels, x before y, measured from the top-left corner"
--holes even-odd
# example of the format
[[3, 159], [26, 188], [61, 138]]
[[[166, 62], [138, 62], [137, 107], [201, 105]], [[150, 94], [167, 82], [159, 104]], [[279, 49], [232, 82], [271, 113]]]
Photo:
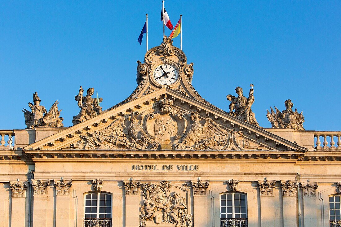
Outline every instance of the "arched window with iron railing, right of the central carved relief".
[[220, 226], [248, 226], [247, 196], [241, 193], [220, 195]]

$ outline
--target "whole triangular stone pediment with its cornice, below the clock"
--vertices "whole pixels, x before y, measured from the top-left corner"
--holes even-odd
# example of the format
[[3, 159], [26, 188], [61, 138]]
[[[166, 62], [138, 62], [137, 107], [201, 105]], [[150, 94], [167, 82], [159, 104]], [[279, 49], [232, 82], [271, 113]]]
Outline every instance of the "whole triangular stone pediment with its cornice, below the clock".
[[36, 141], [25, 152], [98, 150], [306, 151], [227, 112], [164, 87]]

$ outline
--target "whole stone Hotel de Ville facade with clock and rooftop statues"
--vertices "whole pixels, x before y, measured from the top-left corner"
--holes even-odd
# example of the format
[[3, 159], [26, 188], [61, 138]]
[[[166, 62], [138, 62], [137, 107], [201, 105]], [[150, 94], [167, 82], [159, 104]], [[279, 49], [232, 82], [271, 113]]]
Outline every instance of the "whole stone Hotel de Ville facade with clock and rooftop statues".
[[137, 63], [112, 108], [80, 87], [62, 127], [35, 93], [27, 129], [0, 130], [1, 227], [341, 226], [341, 132], [305, 131], [291, 100], [260, 127], [253, 86], [213, 106], [166, 36]]

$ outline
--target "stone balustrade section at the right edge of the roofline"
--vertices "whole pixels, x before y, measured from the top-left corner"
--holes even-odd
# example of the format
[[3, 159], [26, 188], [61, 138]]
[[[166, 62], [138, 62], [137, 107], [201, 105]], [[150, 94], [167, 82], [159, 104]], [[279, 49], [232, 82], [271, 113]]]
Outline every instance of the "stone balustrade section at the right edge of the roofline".
[[316, 150], [341, 150], [341, 131], [315, 131], [314, 137]]

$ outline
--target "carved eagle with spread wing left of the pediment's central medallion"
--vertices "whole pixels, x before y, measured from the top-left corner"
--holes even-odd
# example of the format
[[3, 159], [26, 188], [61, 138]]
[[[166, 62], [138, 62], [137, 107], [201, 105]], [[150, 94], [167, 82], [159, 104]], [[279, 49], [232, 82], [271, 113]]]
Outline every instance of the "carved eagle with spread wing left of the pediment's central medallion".
[[[159, 144], [148, 137], [142, 125], [138, 123], [137, 116], [138, 112], [132, 112], [128, 125], [124, 123], [126, 119], [120, 117], [103, 130], [84, 136], [83, 138], [86, 140], [84, 148], [87, 150], [116, 150], [120, 147], [127, 149], [157, 149]], [[79, 143], [83, 143], [83, 141]], [[80, 145], [74, 144], [72, 147], [80, 148]]]

